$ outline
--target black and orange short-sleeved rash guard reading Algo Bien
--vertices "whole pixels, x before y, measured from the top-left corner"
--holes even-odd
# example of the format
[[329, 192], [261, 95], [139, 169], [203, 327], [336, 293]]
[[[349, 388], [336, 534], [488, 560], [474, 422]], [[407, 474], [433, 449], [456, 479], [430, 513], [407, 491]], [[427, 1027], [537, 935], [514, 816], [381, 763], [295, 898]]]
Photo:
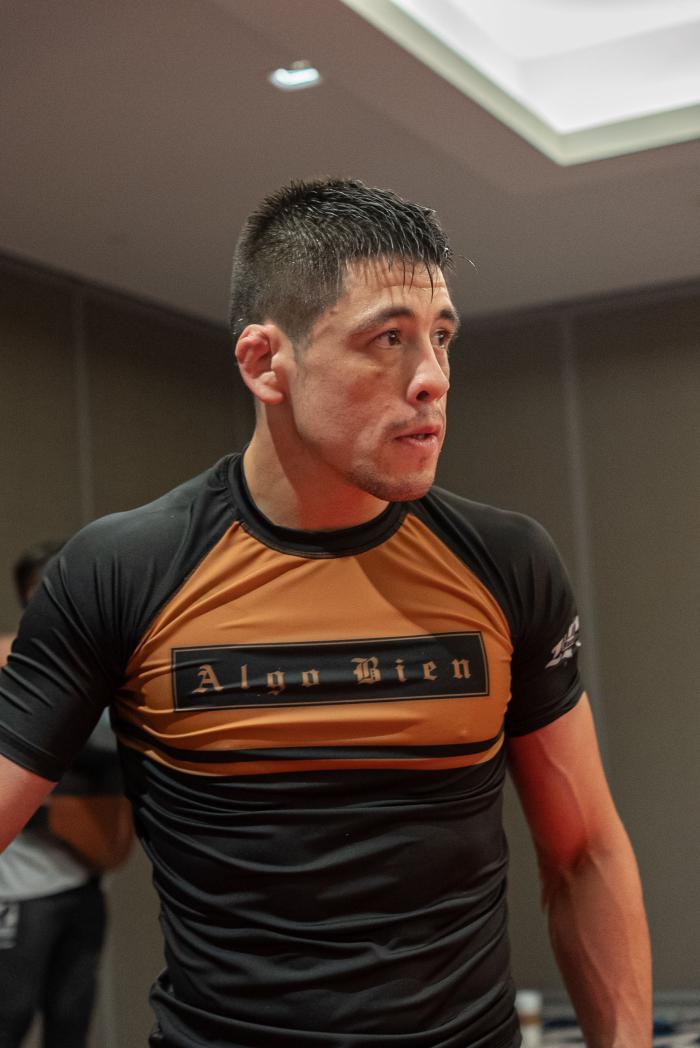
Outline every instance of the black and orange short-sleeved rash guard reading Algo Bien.
[[577, 701], [546, 532], [434, 488], [266, 520], [239, 456], [54, 560], [0, 750], [59, 779], [111, 704], [154, 868], [167, 1048], [511, 1048], [504, 742]]

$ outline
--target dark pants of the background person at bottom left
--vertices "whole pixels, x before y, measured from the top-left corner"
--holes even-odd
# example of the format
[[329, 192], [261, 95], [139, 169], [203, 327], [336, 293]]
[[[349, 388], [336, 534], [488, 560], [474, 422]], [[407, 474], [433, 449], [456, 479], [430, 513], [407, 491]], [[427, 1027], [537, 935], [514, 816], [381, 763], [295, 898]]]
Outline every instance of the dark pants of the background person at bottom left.
[[19, 1048], [37, 1012], [44, 1048], [84, 1048], [105, 921], [97, 880], [40, 899], [0, 900], [0, 1048]]

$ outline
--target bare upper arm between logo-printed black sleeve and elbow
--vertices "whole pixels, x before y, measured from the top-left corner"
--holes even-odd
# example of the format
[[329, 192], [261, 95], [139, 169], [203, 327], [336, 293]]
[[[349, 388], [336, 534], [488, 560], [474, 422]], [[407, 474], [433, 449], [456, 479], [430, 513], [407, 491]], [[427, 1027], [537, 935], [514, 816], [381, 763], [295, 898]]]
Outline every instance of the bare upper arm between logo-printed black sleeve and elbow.
[[586, 695], [552, 723], [510, 739], [508, 762], [545, 868], [573, 867], [621, 829]]

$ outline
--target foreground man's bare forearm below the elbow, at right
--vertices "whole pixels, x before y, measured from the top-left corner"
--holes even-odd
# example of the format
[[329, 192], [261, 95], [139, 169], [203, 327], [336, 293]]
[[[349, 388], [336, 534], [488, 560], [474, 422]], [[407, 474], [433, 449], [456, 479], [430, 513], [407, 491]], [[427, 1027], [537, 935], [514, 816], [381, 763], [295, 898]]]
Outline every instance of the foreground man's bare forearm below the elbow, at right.
[[651, 952], [621, 825], [566, 873], [543, 871], [556, 960], [588, 1048], [651, 1048]]

